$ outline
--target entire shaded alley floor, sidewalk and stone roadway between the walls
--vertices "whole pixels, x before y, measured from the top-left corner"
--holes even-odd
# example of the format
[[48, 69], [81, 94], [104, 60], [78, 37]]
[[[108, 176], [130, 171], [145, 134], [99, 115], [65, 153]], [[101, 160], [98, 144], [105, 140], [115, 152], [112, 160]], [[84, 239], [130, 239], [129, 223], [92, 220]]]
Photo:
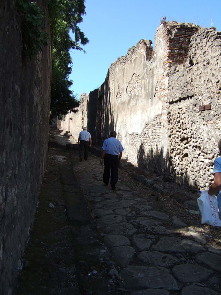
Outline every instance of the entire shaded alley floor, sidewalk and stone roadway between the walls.
[[220, 228], [201, 225], [195, 208], [157, 191], [159, 182], [146, 186], [144, 173], [125, 162], [112, 191], [97, 156], [79, 162], [67, 137], [52, 129], [49, 138], [14, 295], [221, 293]]

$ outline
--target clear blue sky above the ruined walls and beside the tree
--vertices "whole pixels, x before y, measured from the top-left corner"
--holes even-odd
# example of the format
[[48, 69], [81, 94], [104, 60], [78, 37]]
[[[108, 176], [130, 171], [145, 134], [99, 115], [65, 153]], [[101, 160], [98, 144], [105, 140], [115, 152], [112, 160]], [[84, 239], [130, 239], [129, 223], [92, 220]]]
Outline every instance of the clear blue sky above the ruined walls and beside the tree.
[[156, 28], [163, 16], [201, 27], [211, 27], [213, 22], [221, 31], [221, 0], [87, 0], [85, 6], [86, 15], [79, 26], [90, 42], [84, 46], [85, 54], [71, 52], [71, 90], [78, 97], [98, 88], [110, 64], [140, 39], [150, 39], [154, 45]]

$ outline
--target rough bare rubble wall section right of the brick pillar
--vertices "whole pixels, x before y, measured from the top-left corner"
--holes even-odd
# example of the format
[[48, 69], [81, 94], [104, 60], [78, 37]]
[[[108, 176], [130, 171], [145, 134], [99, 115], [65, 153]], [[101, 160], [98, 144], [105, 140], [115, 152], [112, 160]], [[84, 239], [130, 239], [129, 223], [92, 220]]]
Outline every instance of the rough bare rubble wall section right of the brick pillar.
[[[178, 182], [207, 188], [221, 138], [221, 33], [200, 29], [187, 62], [169, 75], [168, 137], [170, 171]], [[199, 106], [211, 110], [199, 111]]]

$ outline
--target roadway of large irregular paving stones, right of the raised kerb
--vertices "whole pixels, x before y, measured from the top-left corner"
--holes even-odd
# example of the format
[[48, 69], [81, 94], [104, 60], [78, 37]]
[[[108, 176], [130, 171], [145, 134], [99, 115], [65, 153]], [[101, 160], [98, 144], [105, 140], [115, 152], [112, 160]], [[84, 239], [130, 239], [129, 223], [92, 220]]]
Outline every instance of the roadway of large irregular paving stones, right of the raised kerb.
[[156, 209], [151, 190], [145, 196], [133, 190], [120, 172], [111, 191], [92, 156], [73, 169], [129, 294], [220, 294], [221, 251], [207, 248], [203, 236], [163, 207]]

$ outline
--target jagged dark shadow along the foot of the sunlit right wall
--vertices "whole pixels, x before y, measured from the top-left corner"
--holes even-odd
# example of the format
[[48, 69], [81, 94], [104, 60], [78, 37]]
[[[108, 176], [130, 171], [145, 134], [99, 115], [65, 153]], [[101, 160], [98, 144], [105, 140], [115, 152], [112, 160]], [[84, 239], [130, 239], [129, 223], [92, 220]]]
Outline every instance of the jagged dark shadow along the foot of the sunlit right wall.
[[[151, 148], [148, 152], [145, 152], [144, 145], [141, 142], [137, 152], [137, 165], [139, 168], [145, 168], [146, 170], [154, 172], [156, 175], [163, 176], [168, 182], [173, 181], [185, 185], [191, 191], [197, 190], [197, 185], [190, 183], [187, 171], [181, 171], [171, 163], [168, 157], [168, 151], [166, 157], [164, 157], [164, 148], [158, 150], [156, 147], [155, 151]], [[170, 173], [171, 168], [175, 171], [173, 174]]]

